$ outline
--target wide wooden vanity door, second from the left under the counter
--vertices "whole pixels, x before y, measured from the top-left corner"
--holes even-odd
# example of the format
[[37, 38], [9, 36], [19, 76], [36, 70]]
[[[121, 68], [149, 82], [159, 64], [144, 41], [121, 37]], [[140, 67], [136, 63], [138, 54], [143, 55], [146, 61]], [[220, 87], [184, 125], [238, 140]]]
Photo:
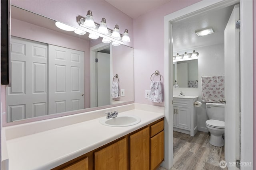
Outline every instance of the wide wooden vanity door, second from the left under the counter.
[[127, 170], [127, 139], [121, 139], [97, 152], [94, 152], [95, 170]]

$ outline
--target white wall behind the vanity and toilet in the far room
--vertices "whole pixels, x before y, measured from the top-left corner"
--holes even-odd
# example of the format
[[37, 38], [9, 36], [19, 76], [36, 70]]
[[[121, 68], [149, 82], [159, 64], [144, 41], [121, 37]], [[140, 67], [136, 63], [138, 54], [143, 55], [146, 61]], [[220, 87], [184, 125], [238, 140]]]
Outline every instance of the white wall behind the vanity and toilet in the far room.
[[[179, 95], [180, 91], [186, 96], [198, 96], [198, 101], [201, 101], [201, 76], [219, 76], [224, 75], [224, 43], [197, 47], [194, 49], [186, 49], [199, 53], [198, 56], [198, 88], [173, 88], [173, 95]], [[183, 54], [185, 51], [174, 52]], [[198, 130], [208, 132], [205, 121], [208, 119], [206, 115], [206, 105], [202, 102], [201, 107], [197, 107], [198, 111]]]

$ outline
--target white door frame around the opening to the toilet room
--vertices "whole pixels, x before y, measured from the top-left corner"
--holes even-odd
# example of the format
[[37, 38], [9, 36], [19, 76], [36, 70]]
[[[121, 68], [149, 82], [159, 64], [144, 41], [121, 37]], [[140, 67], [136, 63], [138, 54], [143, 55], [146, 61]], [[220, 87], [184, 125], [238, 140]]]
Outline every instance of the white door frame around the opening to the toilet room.
[[[202, 0], [196, 4], [164, 17], [164, 162], [170, 169], [173, 165], [173, 117], [172, 117], [172, 21], [190, 17], [212, 9], [223, 8], [240, 2], [240, 105], [241, 105], [241, 162], [250, 162], [253, 167], [253, 2], [252, 0]], [[241, 167], [247, 169], [251, 167]]]

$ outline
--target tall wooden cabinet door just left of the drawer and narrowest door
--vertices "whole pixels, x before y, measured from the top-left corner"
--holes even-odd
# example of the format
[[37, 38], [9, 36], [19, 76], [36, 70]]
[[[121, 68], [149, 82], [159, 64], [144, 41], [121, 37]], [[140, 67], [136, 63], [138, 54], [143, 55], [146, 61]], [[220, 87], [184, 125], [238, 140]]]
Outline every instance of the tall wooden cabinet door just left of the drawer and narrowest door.
[[130, 135], [130, 170], [149, 169], [149, 127]]

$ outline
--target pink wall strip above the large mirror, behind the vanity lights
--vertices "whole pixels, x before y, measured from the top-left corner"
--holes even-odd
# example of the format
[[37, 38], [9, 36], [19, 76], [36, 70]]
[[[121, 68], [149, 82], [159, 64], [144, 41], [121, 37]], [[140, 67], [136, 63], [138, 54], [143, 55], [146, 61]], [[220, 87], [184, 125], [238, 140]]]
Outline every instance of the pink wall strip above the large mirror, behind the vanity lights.
[[11, 4], [74, 27], [80, 27], [76, 17], [86, 16], [91, 10], [95, 22], [100, 23], [106, 18], [110, 29], [116, 24], [120, 33], [128, 29], [131, 42], [127, 45], [133, 47], [133, 19], [104, 0], [12, 0]]

